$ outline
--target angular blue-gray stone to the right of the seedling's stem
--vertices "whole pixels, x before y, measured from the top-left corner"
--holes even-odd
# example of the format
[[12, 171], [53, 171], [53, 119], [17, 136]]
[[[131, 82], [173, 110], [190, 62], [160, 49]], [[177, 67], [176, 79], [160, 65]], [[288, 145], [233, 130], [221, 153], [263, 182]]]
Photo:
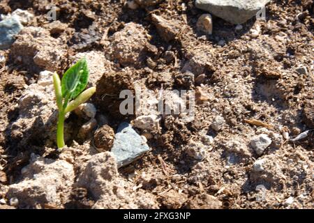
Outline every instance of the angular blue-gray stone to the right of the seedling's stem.
[[130, 164], [149, 150], [145, 139], [133, 130], [132, 125], [129, 123], [119, 125], [111, 150], [118, 168]]

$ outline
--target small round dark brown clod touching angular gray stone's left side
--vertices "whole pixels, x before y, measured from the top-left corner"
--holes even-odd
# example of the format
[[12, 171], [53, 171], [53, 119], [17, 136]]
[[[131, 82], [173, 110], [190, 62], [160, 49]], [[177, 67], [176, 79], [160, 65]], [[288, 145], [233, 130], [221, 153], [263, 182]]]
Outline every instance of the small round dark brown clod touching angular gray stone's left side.
[[114, 130], [103, 125], [94, 133], [94, 145], [99, 152], [110, 151], [114, 143]]

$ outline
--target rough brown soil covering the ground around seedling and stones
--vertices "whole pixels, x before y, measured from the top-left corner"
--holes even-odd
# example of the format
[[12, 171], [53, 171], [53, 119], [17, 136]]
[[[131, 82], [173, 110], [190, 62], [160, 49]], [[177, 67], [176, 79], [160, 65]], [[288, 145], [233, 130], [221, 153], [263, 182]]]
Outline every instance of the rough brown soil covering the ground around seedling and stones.
[[[119, 169], [114, 182], [128, 182], [117, 188], [123, 187], [126, 194], [134, 191], [132, 199], [143, 201], [136, 200], [133, 206], [127, 199], [122, 199], [121, 205], [116, 198], [111, 204], [97, 202], [92, 189], [81, 183], [66, 191], [68, 201], [56, 208], [91, 208], [95, 203], [98, 208], [314, 208], [314, 132], [299, 141], [284, 138], [287, 133], [296, 137], [314, 128], [313, 1], [271, 1], [267, 21], [253, 18], [240, 31], [213, 16], [213, 35], [209, 37], [196, 29], [197, 18], [204, 12], [195, 8], [193, 1], [149, 1], [154, 3], [135, 10], [124, 2], [54, 1], [61, 22], [56, 25], [45, 17], [48, 1], [1, 1], [0, 13], [21, 8], [36, 15], [27, 26], [41, 27], [43, 36], [22, 33], [11, 49], [0, 51], [6, 57], [0, 63], [0, 199], [8, 201], [8, 186], [22, 179], [21, 169], [31, 162], [31, 153], [72, 163], [75, 179], [84, 174], [83, 167], [89, 167], [89, 156], [98, 153], [86, 146], [92, 147], [93, 140], [77, 139], [86, 120], [76, 114], [70, 114], [66, 123], [67, 144], [79, 141], [84, 149], [76, 149], [80, 146], [74, 143], [76, 147], [60, 156], [54, 150], [53, 128], [43, 128], [45, 120], [34, 121], [31, 115], [36, 113], [32, 113], [23, 117], [26, 127], [19, 121], [20, 97], [29, 85], [36, 84], [38, 70], [61, 74], [75, 54], [95, 51], [103, 53], [101, 63], [108, 65], [98, 74], [97, 92], [91, 100], [99, 126], [108, 124], [115, 131], [121, 121], [134, 118], [119, 114], [119, 93], [134, 91], [135, 82], [155, 90], [162, 86], [194, 89], [195, 119], [183, 123], [179, 116], [163, 117], [160, 134], [147, 137], [151, 152]], [[253, 35], [252, 30], [259, 28], [260, 33]], [[218, 45], [219, 40], [225, 45]], [[47, 61], [40, 56], [33, 59], [37, 52]], [[62, 58], [53, 61], [56, 55]], [[305, 66], [308, 73], [299, 74], [299, 66]], [[50, 109], [47, 119], [54, 123], [55, 108], [49, 103], [44, 106]], [[211, 123], [218, 115], [225, 124], [215, 131]], [[257, 132], [267, 130], [245, 121], [252, 119], [271, 125], [270, 135], [281, 136], [261, 156], [250, 141]], [[22, 126], [21, 130], [16, 126]], [[211, 145], [207, 146], [204, 134], [214, 137]], [[203, 147], [202, 160], [193, 158]], [[259, 157], [267, 159], [262, 174], [253, 171]], [[117, 191], [114, 185], [108, 188]], [[261, 193], [262, 200], [258, 199]], [[294, 198], [291, 205], [285, 202], [289, 197]], [[147, 206], [145, 199], [151, 201]], [[53, 207], [39, 203], [35, 208]], [[10, 206], [0, 204], [0, 208]]]

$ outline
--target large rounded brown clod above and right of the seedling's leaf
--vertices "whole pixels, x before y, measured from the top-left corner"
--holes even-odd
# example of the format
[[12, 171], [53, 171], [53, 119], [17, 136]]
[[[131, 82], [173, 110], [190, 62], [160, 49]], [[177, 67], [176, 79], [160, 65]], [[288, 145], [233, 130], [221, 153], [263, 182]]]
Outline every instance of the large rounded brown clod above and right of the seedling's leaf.
[[110, 61], [117, 61], [122, 66], [140, 67], [147, 55], [156, 54], [158, 49], [149, 43], [149, 34], [141, 24], [129, 22], [124, 29], [114, 33], [105, 46]]

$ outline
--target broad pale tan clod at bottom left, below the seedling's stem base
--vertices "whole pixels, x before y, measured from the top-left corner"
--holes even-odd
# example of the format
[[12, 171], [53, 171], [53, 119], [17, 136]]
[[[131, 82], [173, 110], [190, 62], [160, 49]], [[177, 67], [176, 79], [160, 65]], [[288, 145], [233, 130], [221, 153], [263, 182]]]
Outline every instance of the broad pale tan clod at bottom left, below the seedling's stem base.
[[61, 206], [66, 203], [74, 182], [72, 164], [33, 156], [22, 169], [23, 180], [9, 186], [6, 197], [17, 198], [19, 206], [37, 208], [45, 203]]

